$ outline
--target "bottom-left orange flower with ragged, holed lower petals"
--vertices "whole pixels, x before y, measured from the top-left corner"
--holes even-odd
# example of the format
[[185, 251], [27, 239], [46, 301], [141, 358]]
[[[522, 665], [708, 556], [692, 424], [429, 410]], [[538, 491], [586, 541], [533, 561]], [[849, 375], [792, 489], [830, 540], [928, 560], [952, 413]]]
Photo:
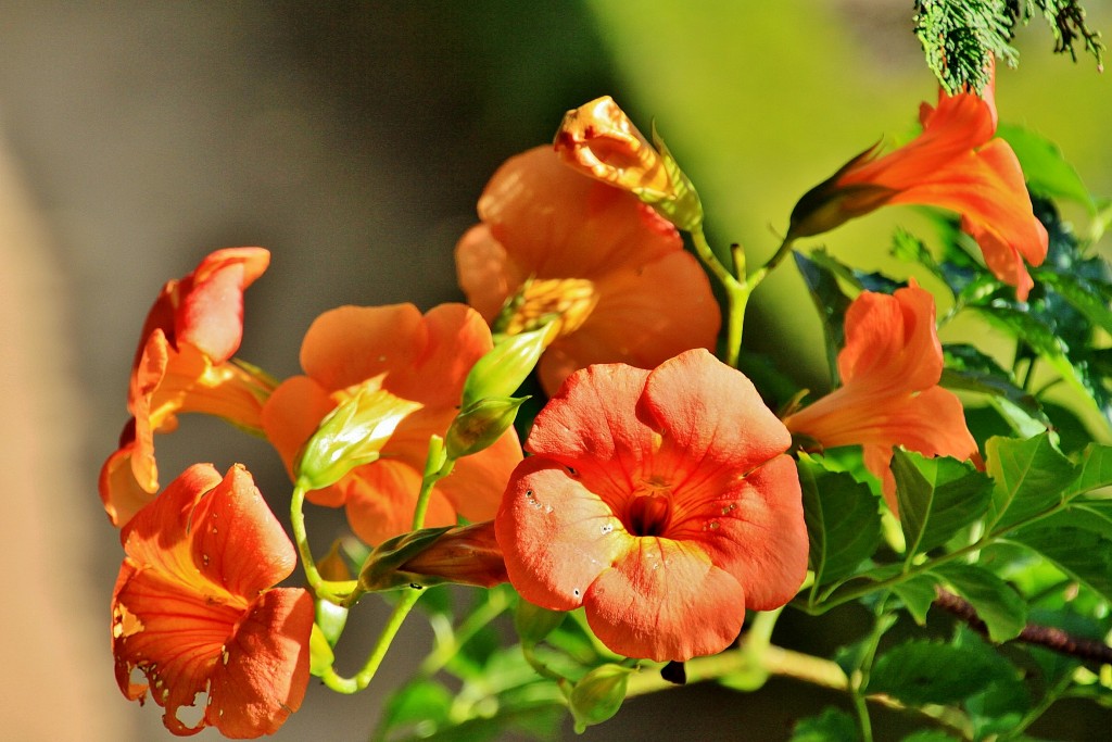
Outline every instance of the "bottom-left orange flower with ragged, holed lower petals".
[[[149, 692], [178, 735], [274, 733], [308, 685], [312, 596], [274, 587], [297, 557], [251, 475], [193, 465], [120, 538], [112, 654], [123, 694], [142, 702]], [[133, 671], [147, 682], [133, 682]], [[199, 693], [207, 705], [189, 726], [178, 711]]]

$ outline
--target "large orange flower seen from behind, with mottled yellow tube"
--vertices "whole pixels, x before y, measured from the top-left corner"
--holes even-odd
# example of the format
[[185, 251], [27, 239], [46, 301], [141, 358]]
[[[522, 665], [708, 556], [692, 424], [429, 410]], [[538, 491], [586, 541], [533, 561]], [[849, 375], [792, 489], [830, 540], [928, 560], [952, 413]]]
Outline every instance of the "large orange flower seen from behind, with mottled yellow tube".
[[538, 365], [549, 395], [589, 364], [653, 368], [714, 347], [721, 316], [706, 275], [633, 192], [537, 147], [495, 172], [478, 211], [456, 246], [459, 285], [495, 332], [558, 324]]

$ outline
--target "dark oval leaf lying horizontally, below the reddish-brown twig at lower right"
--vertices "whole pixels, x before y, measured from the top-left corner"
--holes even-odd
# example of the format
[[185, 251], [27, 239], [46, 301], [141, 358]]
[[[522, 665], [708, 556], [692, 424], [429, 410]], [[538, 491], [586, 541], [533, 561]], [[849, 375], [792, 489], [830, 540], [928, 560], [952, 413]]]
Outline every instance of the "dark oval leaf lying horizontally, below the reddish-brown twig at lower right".
[[1000, 665], [979, 653], [917, 640], [885, 652], [873, 666], [870, 693], [887, 693], [909, 704], [956, 703], [987, 687]]

